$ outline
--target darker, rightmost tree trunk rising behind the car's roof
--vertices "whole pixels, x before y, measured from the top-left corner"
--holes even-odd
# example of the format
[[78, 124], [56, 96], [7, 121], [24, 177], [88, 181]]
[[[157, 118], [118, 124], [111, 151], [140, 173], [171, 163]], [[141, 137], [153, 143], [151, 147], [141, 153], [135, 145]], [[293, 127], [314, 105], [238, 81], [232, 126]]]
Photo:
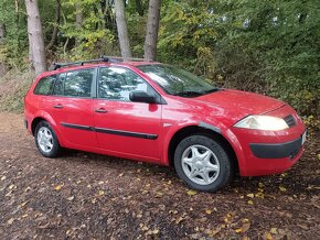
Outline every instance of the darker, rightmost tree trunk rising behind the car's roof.
[[150, 0], [145, 41], [145, 58], [154, 61], [157, 54], [161, 0]]

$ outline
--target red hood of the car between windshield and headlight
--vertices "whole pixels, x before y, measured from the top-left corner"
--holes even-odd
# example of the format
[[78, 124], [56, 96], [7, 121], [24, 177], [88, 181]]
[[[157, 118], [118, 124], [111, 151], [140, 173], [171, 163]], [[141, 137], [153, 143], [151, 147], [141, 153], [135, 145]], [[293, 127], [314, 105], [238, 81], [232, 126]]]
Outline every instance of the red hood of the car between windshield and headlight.
[[222, 89], [209, 95], [193, 98], [213, 108], [212, 114], [218, 118], [228, 118], [230, 123], [234, 123], [248, 114], [263, 114], [274, 109], [280, 108], [285, 103], [275, 98], [264, 95]]

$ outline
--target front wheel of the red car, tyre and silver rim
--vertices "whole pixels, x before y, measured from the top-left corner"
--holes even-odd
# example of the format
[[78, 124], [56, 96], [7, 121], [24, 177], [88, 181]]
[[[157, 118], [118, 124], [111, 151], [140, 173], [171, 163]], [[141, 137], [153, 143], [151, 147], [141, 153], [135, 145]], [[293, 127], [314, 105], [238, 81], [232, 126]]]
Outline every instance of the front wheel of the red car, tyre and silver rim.
[[232, 159], [222, 143], [206, 135], [183, 139], [174, 153], [174, 167], [191, 188], [216, 192], [234, 175]]

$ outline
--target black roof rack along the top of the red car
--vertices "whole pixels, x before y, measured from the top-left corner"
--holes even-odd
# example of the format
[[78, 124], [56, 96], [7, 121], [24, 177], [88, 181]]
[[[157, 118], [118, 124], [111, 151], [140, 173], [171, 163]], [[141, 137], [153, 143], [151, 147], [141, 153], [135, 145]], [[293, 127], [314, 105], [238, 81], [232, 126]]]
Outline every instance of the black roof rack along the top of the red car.
[[62, 67], [68, 67], [68, 66], [83, 66], [87, 63], [102, 63], [102, 62], [108, 62], [108, 63], [118, 63], [118, 62], [126, 62], [126, 61], [139, 61], [139, 62], [150, 62], [149, 59], [145, 58], [137, 58], [137, 57], [118, 57], [118, 56], [100, 56], [98, 59], [88, 59], [88, 61], [78, 61], [78, 62], [71, 62], [71, 63], [53, 63], [53, 70], [56, 70]]

